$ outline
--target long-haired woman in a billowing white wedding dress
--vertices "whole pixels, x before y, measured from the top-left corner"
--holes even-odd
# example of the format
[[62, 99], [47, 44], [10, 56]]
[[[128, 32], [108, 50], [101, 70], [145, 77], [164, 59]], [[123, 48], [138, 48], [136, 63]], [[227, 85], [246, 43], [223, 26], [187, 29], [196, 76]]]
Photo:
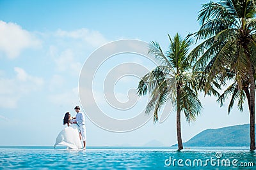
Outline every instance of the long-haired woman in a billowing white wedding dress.
[[54, 148], [57, 145], [64, 145], [71, 149], [83, 148], [81, 143], [81, 136], [79, 136], [79, 127], [77, 124], [73, 124], [73, 122], [76, 122], [76, 119], [70, 117], [70, 113], [67, 112], [63, 119], [63, 125], [67, 124], [67, 127], [65, 127], [65, 129], [63, 129], [60, 134], [58, 134]]

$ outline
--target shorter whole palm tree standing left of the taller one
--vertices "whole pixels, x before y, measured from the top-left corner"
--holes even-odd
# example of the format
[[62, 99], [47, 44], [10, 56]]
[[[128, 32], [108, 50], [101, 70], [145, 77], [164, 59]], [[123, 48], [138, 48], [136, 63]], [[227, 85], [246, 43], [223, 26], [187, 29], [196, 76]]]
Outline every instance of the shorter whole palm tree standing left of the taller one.
[[138, 94], [143, 96], [150, 93], [151, 99], [145, 113], [154, 110], [154, 123], [158, 120], [161, 106], [167, 102], [173, 104], [177, 114], [178, 150], [182, 150], [180, 113], [184, 113], [188, 122], [195, 121], [202, 109], [202, 104], [197, 98], [196, 90], [193, 90], [196, 78], [188, 73], [191, 70], [188, 60], [188, 47], [192, 44], [191, 39], [182, 39], [179, 34], [176, 34], [173, 39], [169, 36], [169, 39], [170, 46], [165, 54], [159, 43], [150, 43], [148, 53], [154, 55], [162, 65], [141, 78]]

